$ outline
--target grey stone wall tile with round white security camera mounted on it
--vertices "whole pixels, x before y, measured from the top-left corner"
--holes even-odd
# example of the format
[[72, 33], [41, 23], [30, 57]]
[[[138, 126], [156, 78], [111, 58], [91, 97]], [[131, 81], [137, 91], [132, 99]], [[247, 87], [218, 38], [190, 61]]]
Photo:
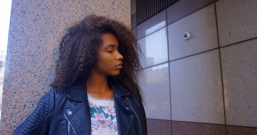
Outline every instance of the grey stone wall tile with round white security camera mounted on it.
[[[189, 40], [184, 33], [191, 34]], [[169, 60], [218, 48], [214, 4], [168, 25]]]

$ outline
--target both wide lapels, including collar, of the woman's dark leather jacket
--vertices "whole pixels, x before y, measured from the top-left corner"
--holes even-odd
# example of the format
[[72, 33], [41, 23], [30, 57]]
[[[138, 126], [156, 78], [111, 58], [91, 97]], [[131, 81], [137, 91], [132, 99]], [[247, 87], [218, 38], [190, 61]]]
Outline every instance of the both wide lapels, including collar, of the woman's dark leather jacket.
[[[130, 130], [131, 124], [135, 117], [131, 110], [127, 109], [130, 107], [126, 101], [125, 96], [130, 95], [128, 93], [123, 93], [113, 82], [110, 82], [110, 85], [114, 91], [114, 105], [116, 111], [118, 133], [120, 135], [128, 134], [128, 131]], [[66, 98], [77, 102], [82, 102], [69, 110], [72, 112], [71, 115], [68, 115], [68, 112], [66, 113], [66, 116], [74, 126], [77, 134], [91, 134], [90, 108], [85, 81], [76, 83], [70, 87], [66, 94]], [[124, 102], [126, 105], [124, 105]]]

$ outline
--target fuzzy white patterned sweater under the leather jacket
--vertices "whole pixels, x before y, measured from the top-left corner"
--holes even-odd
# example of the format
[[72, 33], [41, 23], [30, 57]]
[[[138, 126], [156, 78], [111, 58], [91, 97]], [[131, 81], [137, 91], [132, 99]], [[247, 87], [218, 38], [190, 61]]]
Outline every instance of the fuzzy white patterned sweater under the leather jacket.
[[118, 135], [114, 99], [97, 99], [90, 93], [91, 135]]

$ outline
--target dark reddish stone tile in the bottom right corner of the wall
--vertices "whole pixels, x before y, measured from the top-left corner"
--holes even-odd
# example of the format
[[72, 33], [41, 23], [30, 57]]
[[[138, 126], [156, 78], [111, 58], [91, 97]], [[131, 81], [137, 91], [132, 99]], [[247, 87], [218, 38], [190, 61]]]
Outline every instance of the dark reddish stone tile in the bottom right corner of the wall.
[[227, 135], [257, 134], [257, 128], [227, 126]]

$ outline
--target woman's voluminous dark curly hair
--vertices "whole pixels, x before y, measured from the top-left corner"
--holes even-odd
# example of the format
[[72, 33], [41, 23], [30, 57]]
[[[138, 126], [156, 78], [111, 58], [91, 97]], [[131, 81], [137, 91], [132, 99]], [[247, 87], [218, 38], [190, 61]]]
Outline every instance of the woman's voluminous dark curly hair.
[[139, 56], [143, 54], [137, 39], [123, 22], [94, 14], [69, 28], [61, 39], [56, 77], [51, 86], [66, 89], [75, 82], [86, 80], [95, 67], [97, 50], [105, 33], [113, 33], [117, 38], [124, 65], [119, 75], [108, 76], [108, 80], [111, 79], [123, 92], [142, 98], [139, 76], [143, 74]]

